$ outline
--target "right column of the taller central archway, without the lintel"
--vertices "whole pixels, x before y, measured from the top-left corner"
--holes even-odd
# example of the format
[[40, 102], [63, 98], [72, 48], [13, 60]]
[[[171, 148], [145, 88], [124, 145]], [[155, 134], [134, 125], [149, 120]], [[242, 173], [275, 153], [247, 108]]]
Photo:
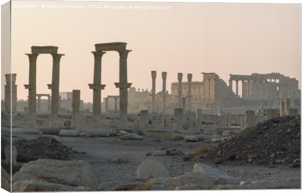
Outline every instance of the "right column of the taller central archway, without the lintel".
[[119, 88], [119, 128], [127, 128], [127, 89], [132, 83], [127, 83], [127, 55], [131, 50], [119, 52], [119, 83], [115, 83]]

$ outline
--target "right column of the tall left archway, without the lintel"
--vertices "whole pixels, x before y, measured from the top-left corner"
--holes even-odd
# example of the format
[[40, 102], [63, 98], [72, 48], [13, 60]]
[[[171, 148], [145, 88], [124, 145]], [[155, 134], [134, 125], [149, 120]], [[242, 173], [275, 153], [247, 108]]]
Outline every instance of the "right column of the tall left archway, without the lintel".
[[51, 84], [51, 127], [58, 126], [58, 110], [59, 110], [59, 74], [60, 74], [60, 58], [63, 54], [52, 54], [53, 69]]

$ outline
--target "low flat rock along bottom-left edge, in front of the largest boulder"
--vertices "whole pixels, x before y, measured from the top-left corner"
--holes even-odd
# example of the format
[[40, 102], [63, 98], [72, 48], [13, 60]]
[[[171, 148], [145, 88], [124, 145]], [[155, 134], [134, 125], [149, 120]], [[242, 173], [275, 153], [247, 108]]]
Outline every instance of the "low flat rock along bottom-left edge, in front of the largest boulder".
[[77, 192], [77, 191], [92, 191], [89, 187], [82, 186], [67, 186], [57, 183], [50, 183], [38, 180], [17, 181], [13, 184], [14, 192]]

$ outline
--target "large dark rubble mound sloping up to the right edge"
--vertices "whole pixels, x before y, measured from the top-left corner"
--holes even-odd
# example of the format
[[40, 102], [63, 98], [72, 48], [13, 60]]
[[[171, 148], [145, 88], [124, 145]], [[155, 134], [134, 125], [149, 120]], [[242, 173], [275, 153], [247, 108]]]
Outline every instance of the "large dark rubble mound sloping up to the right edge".
[[192, 158], [213, 164], [300, 166], [301, 116], [263, 121], [214, 147], [201, 147]]

